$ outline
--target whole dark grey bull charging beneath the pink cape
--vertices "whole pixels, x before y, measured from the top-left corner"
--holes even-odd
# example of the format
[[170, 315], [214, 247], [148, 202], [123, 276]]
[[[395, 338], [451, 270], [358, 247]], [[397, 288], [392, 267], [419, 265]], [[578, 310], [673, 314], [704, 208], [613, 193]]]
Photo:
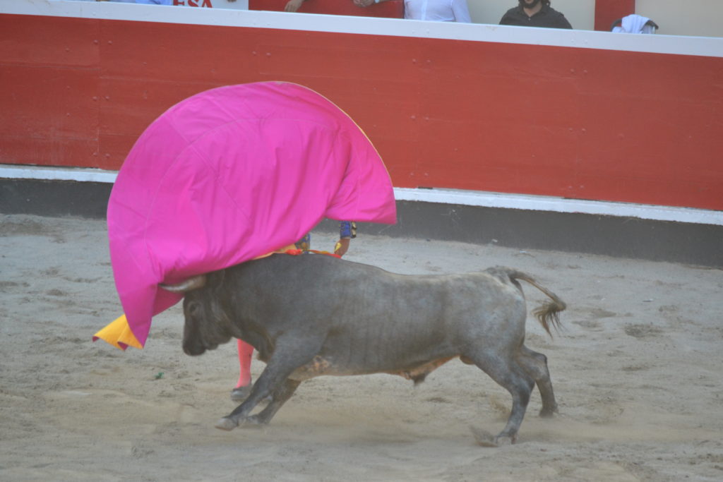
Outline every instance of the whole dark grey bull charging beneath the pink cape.
[[[275, 254], [163, 288], [185, 293], [184, 352], [200, 355], [236, 337], [267, 363], [219, 429], [268, 423], [315, 376], [388, 373], [419, 383], [459, 357], [512, 394], [512, 413], [494, 442], [514, 443], [535, 383], [540, 416], [557, 411], [547, 357], [523, 345], [527, 309], [517, 280], [551, 298], [534, 311], [549, 333], [565, 304], [529, 275], [504, 267], [397, 275], [318, 254]], [[264, 410], [249, 415], [269, 396]]]

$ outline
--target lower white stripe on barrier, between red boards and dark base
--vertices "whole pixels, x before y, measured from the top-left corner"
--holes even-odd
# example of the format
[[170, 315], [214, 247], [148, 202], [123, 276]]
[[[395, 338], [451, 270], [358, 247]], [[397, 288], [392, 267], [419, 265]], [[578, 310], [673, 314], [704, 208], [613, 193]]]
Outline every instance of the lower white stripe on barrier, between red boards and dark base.
[[[114, 183], [116, 171], [89, 168], [51, 168], [40, 166], [0, 165], [0, 178], [46, 181]], [[458, 189], [394, 188], [398, 201], [435, 202], [447, 205], [493, 207], [502, 209], [567, 212], [587, 215], [638, 218], [677, 223], [723, 225], [723, 211], [690, 207], [638, 205], [627, 202], [586, 201], [529, 194], [505, 194]]]

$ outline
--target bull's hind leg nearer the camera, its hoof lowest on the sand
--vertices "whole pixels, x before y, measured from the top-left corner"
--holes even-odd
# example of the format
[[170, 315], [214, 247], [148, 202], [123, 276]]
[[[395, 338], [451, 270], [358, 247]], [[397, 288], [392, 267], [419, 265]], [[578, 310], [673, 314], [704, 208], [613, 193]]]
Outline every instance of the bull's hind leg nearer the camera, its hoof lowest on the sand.
[[534, 379], [524, 371], [509, 354], [500, 352], [479, 352], [467, 355], [482, 371], [492, 377], [512, 395], [512, 411], [507, 424], [495, 437], [495, 444], [514, 444], [520, 429], [530, 394], [535, 386]]

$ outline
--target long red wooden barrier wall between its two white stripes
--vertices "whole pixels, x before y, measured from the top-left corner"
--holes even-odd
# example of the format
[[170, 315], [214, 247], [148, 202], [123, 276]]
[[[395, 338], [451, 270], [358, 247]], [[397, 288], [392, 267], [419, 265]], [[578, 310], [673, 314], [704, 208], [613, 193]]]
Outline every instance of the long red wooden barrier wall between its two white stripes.
[[118, 169], [179, 100], [284, 80], [398, 187], [723, 210], [719, 57], [14, 14], [0, 45], [0, 163]]

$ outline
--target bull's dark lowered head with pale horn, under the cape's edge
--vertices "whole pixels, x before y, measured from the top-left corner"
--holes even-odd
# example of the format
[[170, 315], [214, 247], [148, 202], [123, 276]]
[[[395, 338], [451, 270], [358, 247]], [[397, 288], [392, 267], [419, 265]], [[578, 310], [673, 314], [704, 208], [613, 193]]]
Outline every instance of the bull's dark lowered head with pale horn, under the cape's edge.
[[231, 340], [231, 320], [223, 301], [223, 273], [194, 276], [176, 285], [161, 284], [166, 291], [184, 294], [183, 350], [187, 355], [201, 355]]

